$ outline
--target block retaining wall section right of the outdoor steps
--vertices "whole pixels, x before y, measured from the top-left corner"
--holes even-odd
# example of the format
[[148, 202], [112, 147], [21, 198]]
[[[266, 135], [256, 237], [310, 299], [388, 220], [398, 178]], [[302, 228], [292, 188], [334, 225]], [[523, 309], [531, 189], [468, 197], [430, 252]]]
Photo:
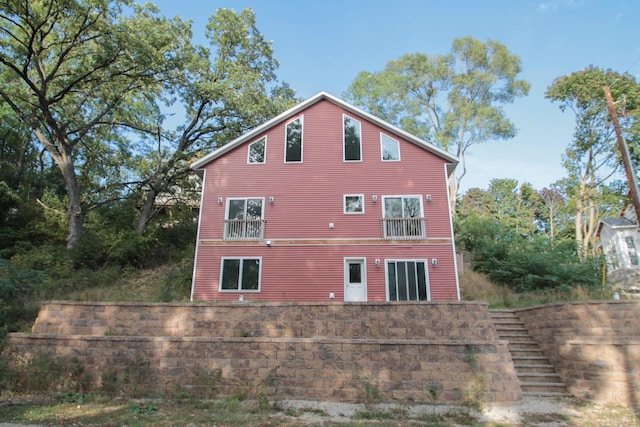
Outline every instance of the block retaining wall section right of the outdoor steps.
[[572, 395], [640, 407], [640, 302], [551, 304], [517, 313]]

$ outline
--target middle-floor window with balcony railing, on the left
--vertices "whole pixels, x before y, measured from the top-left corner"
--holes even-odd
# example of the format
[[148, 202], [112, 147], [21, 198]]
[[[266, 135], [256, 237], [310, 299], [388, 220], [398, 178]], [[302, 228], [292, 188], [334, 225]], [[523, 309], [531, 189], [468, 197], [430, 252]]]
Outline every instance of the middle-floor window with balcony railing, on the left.
[[262, 240], [264, 236], [263, 198], [228, 199], [224, 227], [226, 240]]

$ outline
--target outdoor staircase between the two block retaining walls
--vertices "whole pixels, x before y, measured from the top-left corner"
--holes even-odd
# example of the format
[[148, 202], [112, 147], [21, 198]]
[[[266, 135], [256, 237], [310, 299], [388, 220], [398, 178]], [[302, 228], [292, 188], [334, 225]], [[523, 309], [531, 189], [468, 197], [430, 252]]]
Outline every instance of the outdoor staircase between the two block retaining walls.
[[513, 310], [490, 310], [498, 338], [509, 343], [520, 388], [525, 395], [566, 396], [567, 387]]

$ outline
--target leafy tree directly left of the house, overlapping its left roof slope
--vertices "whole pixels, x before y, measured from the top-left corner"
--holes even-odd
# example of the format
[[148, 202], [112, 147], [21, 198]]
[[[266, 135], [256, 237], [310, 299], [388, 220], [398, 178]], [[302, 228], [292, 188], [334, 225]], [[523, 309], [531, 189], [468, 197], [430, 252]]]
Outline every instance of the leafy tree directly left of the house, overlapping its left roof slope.
[[[158, 149], [144, 151], [137, 162], [143, 176], [139, 234], [160, 212], [155, 203], [159, 194], [193, 186], [185, 179], [192, 176], [189, 160], [233, 140], [295, 101], [286, 84], [274, 84], [278, 63], [271, 44], [256, 28], [252, 10], [219, 9], [209, 18], [206, 37], [210, 47], [192, 53], [185, 63], [187, 71], [161, 100], [168, 106], [180, 104], [184, 124], [165, 131], [167, 116], [147, 122], [146, 138], [157, 138]], [[153, 147], [153, 141], [146, 146]]]

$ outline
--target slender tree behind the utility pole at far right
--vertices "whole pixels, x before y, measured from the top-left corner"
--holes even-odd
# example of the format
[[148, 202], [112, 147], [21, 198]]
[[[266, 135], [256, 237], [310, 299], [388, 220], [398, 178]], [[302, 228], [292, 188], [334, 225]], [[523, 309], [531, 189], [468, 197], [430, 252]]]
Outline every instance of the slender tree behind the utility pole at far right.
[[[573, 141], [563, 156], [568, 172], [563, 187], [574, 208], [575, 241], [583, 261], [593, 252], [598, 220], [610, 203], [602, 194], [621, 163], [603, 92], [606, 85], [612, 86], [614, 98], [627, 99], [625, 128], [637, 127], [640, 87], [629, 74], [588, 67], [557, 78], [546, 92], [548, 99], [560, 103], [562, 111], [568, 108], [576, 116]], [[637, 135], [637, 131], [630, 134]]]

